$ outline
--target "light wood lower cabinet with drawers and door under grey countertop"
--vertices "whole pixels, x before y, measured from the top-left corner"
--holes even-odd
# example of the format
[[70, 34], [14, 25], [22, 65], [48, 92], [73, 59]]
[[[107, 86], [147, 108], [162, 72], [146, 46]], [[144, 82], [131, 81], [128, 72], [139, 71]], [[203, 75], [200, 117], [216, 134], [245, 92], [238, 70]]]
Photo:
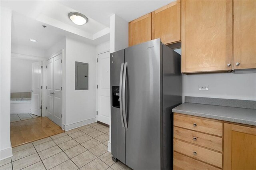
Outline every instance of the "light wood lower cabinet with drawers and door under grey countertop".
[[174, 170], [256, 170], [253, 126], [174, 113], [173, 144]]

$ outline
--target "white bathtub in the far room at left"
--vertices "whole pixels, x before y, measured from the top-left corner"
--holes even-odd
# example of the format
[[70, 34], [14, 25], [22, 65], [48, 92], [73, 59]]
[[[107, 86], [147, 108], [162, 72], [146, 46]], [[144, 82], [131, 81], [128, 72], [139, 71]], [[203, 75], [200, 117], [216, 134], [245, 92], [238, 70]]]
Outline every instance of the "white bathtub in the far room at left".
[[11, 114], [31, 113], [31, 98], [11, 99]]

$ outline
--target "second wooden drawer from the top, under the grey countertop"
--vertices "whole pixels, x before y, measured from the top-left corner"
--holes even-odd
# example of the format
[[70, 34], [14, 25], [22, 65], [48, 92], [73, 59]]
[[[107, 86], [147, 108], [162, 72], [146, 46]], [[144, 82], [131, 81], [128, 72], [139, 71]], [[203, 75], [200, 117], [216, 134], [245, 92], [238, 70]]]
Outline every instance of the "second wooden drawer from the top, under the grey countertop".
[[185, 140], [187, 142], [191, 142], [200, 146], [204, 146], [206, 148], [222, 152], [221, 137], [195, 132], [184, 128], [174, 127], [174, 138]]

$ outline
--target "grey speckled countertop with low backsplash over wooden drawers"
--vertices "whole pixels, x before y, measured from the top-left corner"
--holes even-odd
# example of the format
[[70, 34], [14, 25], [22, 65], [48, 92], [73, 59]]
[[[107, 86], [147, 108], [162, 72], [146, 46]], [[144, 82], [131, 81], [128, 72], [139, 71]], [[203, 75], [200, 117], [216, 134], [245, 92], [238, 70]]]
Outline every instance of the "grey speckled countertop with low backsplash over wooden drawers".
[[256, 126], [256, 101], [187, 97], [174, 113]]

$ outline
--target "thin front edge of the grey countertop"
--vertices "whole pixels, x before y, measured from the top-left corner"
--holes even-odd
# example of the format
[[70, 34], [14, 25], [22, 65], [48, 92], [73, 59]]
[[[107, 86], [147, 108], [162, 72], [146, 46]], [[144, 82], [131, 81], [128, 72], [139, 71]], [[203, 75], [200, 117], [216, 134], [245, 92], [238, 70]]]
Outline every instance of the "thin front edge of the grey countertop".
[[204, 117], [204, 118], [209, 118], [209, 119], [216, 119], [216, 120], [220, 120], [220, 121], [227, 121], [230, 123], [241, 123], [244, 125], [256, 126], [255, 121], [249, 121], [249, 120], [244, 120], [244, 119], [236, 119], [236, 118], [232, 118], [232, 117], [222, 117], [222, 116], [217, 116], [217, 115], [208, 115], [205, 113], [195, 113], [195, 112], [189, 112], [189, 111], [183, 111], [183, 110], [177, 110], [177, 109], [172, 109], [172, 112], [173, 113], [181, 113], [184, 115]]

